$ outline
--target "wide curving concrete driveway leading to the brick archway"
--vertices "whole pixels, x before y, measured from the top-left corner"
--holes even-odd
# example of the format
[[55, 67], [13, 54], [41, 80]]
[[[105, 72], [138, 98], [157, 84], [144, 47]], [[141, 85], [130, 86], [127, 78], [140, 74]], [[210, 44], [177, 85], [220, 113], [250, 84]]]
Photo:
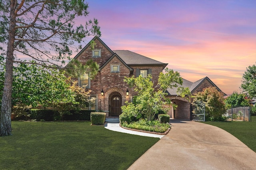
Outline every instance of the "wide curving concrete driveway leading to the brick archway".
[[256, 152], [212, 125], [172, 120], [172, 129], [128, 170], [256, 170]]

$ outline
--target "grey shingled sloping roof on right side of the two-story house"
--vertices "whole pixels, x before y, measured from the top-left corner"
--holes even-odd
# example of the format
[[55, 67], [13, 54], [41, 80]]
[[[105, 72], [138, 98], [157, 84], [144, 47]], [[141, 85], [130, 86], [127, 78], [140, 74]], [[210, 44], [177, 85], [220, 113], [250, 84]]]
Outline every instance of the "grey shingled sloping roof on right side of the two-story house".
[[160, 61], [156, 61], [154, 59], [145, 57], [144, 55], [140, 55], [138, 53], [134, 53], [129, 50], [113, 50], [126, 64], [128, 65], [163, 65], [163, 68], [166, 67], [166, 63], [162, 63]]

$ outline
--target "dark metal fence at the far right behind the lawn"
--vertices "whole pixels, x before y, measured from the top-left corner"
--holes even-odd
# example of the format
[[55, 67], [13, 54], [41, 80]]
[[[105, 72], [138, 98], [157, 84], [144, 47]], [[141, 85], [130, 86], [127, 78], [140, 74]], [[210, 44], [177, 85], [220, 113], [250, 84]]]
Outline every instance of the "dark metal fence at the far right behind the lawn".
[[251, 121], [256, 122], [256, 107], [232, 107], [224, 114], [227, 121]]

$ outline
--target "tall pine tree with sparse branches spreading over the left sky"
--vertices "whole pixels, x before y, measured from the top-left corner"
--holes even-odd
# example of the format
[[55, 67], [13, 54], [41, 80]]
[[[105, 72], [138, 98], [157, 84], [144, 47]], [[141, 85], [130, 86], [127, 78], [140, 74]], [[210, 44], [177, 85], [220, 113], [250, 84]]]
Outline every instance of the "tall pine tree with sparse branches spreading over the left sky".
[[84, 0], [0, 0], [0, 49], [6, 56], [0, 136], [11, 134], [14, 63], [31, 63], [19, 58], [25, 55], [45, 67], [63, 67], [72, 49], [81, 47], [75, 42], [81, 43], [90, 35], [100, 36], [95, 19], [85, 22], [85, 26], [75, 26], [74, 19], [87, 16], [87, 8]]

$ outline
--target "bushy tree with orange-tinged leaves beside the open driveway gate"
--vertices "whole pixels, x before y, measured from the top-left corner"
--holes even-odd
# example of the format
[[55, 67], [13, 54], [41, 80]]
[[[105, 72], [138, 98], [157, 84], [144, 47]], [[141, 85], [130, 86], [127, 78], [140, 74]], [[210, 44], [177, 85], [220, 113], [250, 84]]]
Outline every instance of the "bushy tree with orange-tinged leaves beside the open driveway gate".
[[223, 93], [218, 91], [216, 87], [208, 87], [203, 91], [192, 96], [193, 105], [199, 102], [205, 104], [206, 121], [221, 121], [222, 115], [225, 113], [225, 103]]

